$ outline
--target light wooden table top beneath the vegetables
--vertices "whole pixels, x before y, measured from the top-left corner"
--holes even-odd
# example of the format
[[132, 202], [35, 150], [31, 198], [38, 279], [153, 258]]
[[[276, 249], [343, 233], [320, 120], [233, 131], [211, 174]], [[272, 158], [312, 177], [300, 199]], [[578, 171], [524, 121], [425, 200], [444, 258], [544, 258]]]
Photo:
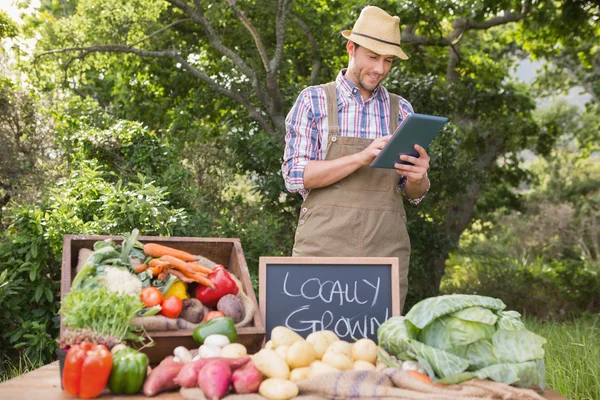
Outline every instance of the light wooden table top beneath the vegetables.
[[[76, 397], [68, 395], [60, 388], [60, 374], [58, 361], [45, 365], [34, 371], [17, 376], [9, 381], [0, 383], [0, 400], [9, 399], [32, 399], [32, 400], [65, 400]], [[553, 390], [546, 389], [542, 394], [548, 400], [568, 400], [566, 397]], [[143, 395], [138, 396], [114, 396], [106, 390], [100, 396], [102, 399], [148, 399]], [[179, 392], [162, 393], [154, 398], [181, 400]]]

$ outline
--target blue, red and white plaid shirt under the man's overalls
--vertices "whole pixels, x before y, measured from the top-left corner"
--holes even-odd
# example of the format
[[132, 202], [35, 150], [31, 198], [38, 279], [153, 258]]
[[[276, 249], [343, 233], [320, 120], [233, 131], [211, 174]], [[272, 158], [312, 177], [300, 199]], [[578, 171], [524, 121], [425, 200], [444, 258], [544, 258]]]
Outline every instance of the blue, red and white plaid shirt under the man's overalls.
[[[360, 90], [346, 77], [343, 69], [335, 83], [338, 94], [339, 134], [356, 138], [376, 139], [388, 134], [390, 120], [390, 98], [386, 88], [379, 85], [367, 101], [363, 101]], [[413, 108], [400, 97], [400, 124]], [[296, 104], [285, 120], [285, 153], [281, 171], [285, 187], [291, 193], [306, 197], [304, 168], [310, 160], [323, 160], [328, 143], [327, 99], [321, 86], [310, 86], [300, 93]], [[399, 190], [404, 193], [406, 177], [400, 176]], [[419, 204], [429, 191], [416, 199], [407, 197], [412, 204]]]

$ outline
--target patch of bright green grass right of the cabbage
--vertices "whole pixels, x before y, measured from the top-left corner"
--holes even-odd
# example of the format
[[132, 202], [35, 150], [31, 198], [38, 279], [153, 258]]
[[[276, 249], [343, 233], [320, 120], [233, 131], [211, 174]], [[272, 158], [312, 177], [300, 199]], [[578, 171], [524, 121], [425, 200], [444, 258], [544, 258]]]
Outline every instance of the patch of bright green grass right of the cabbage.
[[523, 322], [548, 340], [546, 384], [569, 399], [600, 399], [600, 315], [561, 323]]

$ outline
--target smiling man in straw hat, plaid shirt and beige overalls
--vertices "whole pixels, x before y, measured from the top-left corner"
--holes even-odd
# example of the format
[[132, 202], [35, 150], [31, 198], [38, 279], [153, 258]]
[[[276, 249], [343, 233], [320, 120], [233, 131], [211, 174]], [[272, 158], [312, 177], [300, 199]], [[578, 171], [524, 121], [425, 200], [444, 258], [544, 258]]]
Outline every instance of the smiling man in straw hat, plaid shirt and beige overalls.
[[410, 240], [402, 192], [418, 204], [429, 190], [429, 156], [400, 158], [414, 165], [370, 168], [402, 120], [413, 112], [405, 99], [380, 85], [400, 48], [400, 19], [377, 7], [362, 10], [344, 31], [348, 68], [335, 82], [300, 94], [286, 118], [282, 172], [299, 192], [294, 256], [398, 257], [400, 307], [408, 289]]

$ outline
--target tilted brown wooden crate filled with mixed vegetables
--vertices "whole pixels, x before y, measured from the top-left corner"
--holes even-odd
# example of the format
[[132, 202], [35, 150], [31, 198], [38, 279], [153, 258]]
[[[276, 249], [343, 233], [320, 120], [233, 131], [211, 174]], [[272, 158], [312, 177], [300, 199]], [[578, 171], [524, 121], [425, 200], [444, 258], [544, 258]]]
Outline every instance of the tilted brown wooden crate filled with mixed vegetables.
[[[79, 251], [84, 248], [93, 249], [95, 242], [104, 239], [113, 239], [116, 243], [120, 243], [122, 240], [119, 236], [65, 235], [63, 237], [61, 299], [71, 289]], [[192, 254], [201, 255], [217, 264], [223, 264], [229, 272], [233, 273], [241, 281], [244, 292], [255, 305], [253, 322], [250, 326], [238, 329], [237, 342], [246, 346], [249, 353], [255, 353], [260, 350], [265, 337], [265, 325], [260, 317], [258, 303], [252, 288], [252, 281], [250, 280], [250, 273], [248, 272], [248, 266], [246, 265], [239, 239], [140, 236], [138, 240], [142, 243], [160, 243]], [[60, 330], [62, 334], [62, 316]], [[151, 364], [157, 364], [166, 356], [173, 354], [173, 349], [177, 346], [185, 346], [188, 349], [198, 347], [192, 338], [191, 330], [150, 331], [148, 334], [155, 341], [155, 345], [147, 347], [142, 351], [148, 354]]]

